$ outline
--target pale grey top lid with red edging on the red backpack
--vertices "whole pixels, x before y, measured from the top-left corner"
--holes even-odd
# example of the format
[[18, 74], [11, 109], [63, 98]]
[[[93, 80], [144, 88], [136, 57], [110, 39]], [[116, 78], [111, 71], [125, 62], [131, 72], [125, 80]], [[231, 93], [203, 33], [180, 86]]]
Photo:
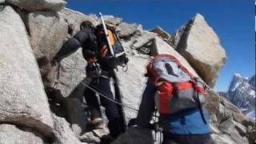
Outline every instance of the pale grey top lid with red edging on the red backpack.
[[154, 85], [159, 80], [168, 82], [188, 82], [193, 78], [186, 67], [182, 66], [177, 58], [171, 54], [158, 54], [154, 56], [147, 66]]

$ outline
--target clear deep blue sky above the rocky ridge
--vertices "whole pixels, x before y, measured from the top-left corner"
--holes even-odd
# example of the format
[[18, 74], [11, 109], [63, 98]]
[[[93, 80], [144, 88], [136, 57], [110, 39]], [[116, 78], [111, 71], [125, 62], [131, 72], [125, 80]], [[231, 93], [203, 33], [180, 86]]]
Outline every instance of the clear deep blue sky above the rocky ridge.
[[146, 30], [161, 26], [170, 34], [194, 14], [202, 14], [228, 57], [214, 89], [226, 91], [235, 73], [255, 74], [253, 0], [70, 0], [67, 7], [84, 14], [112, 14], [141, 23]]

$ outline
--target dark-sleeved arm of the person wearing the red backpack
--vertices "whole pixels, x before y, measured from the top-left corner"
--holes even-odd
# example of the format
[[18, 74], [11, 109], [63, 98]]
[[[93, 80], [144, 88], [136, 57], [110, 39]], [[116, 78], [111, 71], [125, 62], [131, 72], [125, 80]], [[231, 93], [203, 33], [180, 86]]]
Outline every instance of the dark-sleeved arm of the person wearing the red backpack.
[[154, 113], [154, 94], [156, 91], [156, 87], [148, 81], [142, 94], [142, 102], [139, 106], [138, 116], [136, 118], [138, 127], [143, 128], [150, 123]]

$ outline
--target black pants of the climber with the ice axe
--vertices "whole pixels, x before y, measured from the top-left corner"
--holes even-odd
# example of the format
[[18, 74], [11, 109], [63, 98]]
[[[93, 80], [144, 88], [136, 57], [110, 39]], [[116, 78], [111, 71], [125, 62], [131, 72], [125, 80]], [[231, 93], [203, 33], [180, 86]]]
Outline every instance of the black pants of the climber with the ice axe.
[[[114, 100], [114, 96], [111, 92], [110, 87], [110, 78], [94, 78], [94, 80], [90, 83], [90, 86], [97, 90], [99, 93], [104, 94], [106, 97]], [[100, 104], [98, 102], [98, 98], [93, 90], [86, 88], [85, 90], [85, 98], [86, 103], [89, 106], [89, 110], [91, 113], [91, 118], [102, 118], [100, 111]], [[110, 135], [114, 138], [117, 138], [119, 134], [121, 134], [121, 124], [119, 122], [120, 116], [118, 114], [118, 106], [116, 103], [111, 102], [110, 100], [103, 98], [101, 95], [99, 96], [100, 102], [102, 106], [106, 109], [106, 117], [109, 120], [108, 128], [110, 130]]]

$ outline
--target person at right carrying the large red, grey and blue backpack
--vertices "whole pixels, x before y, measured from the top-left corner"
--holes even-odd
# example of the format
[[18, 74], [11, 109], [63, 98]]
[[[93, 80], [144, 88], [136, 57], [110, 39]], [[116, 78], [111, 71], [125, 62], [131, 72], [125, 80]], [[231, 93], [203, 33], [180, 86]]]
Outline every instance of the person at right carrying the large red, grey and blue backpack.
[[170, 54], [154, 57], [147, 66], [146, 77], [148, 82], [136, 118], [138, 128], [148, 126], [156, 106], [163, 130], [162, 144], [208, 144], [208, 115], [201, 106], [205, 89], [202, 82]]

